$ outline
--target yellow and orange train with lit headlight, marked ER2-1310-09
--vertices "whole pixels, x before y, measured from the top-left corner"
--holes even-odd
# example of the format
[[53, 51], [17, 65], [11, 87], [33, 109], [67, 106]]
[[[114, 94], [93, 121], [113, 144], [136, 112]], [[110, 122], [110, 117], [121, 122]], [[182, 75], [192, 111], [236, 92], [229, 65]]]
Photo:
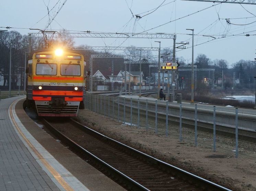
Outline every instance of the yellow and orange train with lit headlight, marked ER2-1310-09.
[[72, 117], [84, 109], [85, 61], [62, 49], [38, 51], [28, 60], [27, 105], [38, 116]]

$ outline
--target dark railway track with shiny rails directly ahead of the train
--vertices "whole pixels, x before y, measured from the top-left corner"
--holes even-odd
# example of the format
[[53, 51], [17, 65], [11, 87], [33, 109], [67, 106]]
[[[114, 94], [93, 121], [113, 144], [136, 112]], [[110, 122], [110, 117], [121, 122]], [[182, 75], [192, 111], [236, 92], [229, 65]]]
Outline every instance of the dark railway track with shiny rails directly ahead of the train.
[[[108, 138], [74, 121], [44, 119], [58, 139], [94, 161], [128, 190], [219, 191], [229, 189]], [[72, 129], [72, 131], [70, 131]]]

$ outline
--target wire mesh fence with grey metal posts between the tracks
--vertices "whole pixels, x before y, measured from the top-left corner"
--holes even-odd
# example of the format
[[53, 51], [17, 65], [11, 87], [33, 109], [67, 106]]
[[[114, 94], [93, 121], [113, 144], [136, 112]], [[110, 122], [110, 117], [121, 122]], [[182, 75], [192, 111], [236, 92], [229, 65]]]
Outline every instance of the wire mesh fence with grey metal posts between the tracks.
[[[85, 99], [87, 109], [104, 115], [104, 117], [116, 119], [127, 126], [145, 128], [146, 131], [153, 131], [156, 134], [178, 137], [179, 141], [193, 142], [195, 147], [198, 144], [205, 145], [207, 148], [216, 151], [216, 145], [225, 142], [224, 139], [217, 139], [216, 136], [216, 124], [221, 123], [220, 118], [216, 118], [216, 106], [212, 106], [213, 112], [203, 114], [201, 105], [195, 104], [194, 106], [193, 111], [189, 111], [182, 103], [170, 106], [168, 101], [149, 101], [140, 98], [94, 94], [86, 94]], [[199, 109], [200, 115], [198, 115]], [[238, 158], [238, 109], [235, 108], [234, 111], [235, 137], [232, 139], [232, 144], [234, 144], [233, 148], [235, 147], [235, 150], [231, 149], [231, 152], [235, 152], [235, 157]], [[190, 124], [190, 128], [188, 128], [186, 124], [184, 125], [183, 120], [188, 120], [191, 112], [193, 112], [193, 124]], [[206, 119], [212, 121], [212, 126], [209, 128], [209, 131], [212, 131], [210, 135], [204, 131], [198, 131], [198, 122], [204, 122]], [[191, 128], [191, 126], [194, 126], [194, 128]]]

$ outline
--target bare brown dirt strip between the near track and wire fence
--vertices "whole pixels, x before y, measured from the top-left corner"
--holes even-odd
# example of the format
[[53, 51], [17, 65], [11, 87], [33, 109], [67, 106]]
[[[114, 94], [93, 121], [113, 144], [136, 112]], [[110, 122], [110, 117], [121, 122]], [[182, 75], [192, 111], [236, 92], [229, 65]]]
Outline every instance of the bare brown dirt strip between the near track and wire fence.
[[[195, 147], [193, 129], [183, 127], [183, 140], [179, 141], [177, 123], [168, 124], [166, 137], [164, 124], [159, 124], [159, 133], [155, 134], [153, 128], [146, 131], [144, 127], [125, 125], [86, 109], [80, 110], [77, 118], [110, 138], [221, 186], [237, 191], [256, 191], [256, 144], [239, 141], [236, 159], [234, 139], [217, 136], [217, 151], [213, 152], [212, 135], [199, 131], [198, 146]], [[154, 126], [154, 121], [150, 123]]]

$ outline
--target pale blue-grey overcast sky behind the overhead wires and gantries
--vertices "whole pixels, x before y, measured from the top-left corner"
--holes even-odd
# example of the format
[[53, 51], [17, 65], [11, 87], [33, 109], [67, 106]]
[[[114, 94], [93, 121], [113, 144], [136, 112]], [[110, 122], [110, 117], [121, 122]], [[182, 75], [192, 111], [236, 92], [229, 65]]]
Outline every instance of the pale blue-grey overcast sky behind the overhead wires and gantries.
[[[65, 4], [61, 8], [63, 3]], [[163, 6], [158, 8], [161, 4]], [[60, 8], [61, 10], [57, 13]], [[208, 9], [203, 10], [205, 8]], [[189, 48], [192, 45], [192, 38], [191, 35], [188, 35], [192, 31], [186, 30], [190, 28], [194, 29], [195, 35], [194, 58], [198, 54], [205, 54], [211, 60], [225, 59], [229, 65], [232, 65], [240, 59], [254, 60], [256, 57], [255, 8], [256, 5], [183, 0], [1, 0], [0, 27], [14, 27], [16, 29], [10, 30], [27, 35], [29, 32], [36, 32], [29, 28], [45, 29], [49, 20], [51, 21], [55, 17], [48, 27], [50, 30], [64, 28], [92, 32], [176, 33], [177, 43], [181, 41], [190, 43], [186, 45], [187, 49], [176, 50], [176, 56], [184, 57], [187, 63], [191, 63], [192, 54], [192, 50]], [[135, 15], [142, 18], [136, 19]], [[228, 24], [225, 18], [229, 18], [228, 22], [231, 24]], [[0, 28], [0, 30], [4, 29]], [[244, 36], [247, 33], [250, 35], [249, 37]], [[237, 36], [238, 34], [240, 36]], [[229, 35], [234, 36], [230, 37]], [[216, 39], [213, 40], [213, 37]], [[129, 38], [125, 42], [124, 40], [76, 38], [75, 42], [76, 45], [87, 44], [90, 46], [159, 47], [159, 43], [154, 41], [161, 41], [161, 47], [172, 48], [173, 46], [172, 39]], [[203, 44], [198, 45], [200, 43]]]

